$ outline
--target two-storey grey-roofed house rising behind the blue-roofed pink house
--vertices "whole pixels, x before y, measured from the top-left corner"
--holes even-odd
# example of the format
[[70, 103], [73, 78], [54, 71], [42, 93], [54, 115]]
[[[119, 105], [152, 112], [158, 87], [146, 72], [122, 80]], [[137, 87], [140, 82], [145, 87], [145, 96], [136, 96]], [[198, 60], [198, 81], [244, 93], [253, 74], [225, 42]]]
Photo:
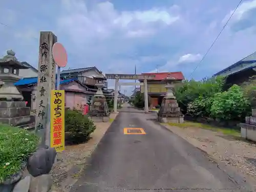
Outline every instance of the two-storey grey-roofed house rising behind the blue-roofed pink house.
[[[100, 75], [100, 71], [94, 67], [87, 68], [79, 68], [79, 69], [70, 69], [63, 70], [60, 72], [60, 76], [64, 79], [68, 78], [77, 78], [80, 82], [86, 84], [91, 88], [96, 88], [95, 84], [97, 80], [93, 79], [93, 77]], [[108, 88], [108, 82], [104, 81], [104, 87]]]

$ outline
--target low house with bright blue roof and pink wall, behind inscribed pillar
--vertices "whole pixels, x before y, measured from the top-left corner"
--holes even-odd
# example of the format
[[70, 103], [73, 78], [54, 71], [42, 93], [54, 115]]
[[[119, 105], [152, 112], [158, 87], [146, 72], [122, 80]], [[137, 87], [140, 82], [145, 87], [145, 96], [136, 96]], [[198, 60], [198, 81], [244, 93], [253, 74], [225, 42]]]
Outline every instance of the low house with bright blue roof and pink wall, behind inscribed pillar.
[[[29, 77], [18, 80], [14, 83], [24, 100], [28, 101], [27, 106], [31, 110], [36, 109], [36, 91], [37, 77]], [[93, 99], [97, 89], [89, 88], [86, 84], [80, 82], [77, 78], [61, 79], [60, 90], [65, 90], [65, 106], [70, 109], [82, 110], [83, 105]], [[103, 94], [108, 96], [109, 92], [102, 90]]]

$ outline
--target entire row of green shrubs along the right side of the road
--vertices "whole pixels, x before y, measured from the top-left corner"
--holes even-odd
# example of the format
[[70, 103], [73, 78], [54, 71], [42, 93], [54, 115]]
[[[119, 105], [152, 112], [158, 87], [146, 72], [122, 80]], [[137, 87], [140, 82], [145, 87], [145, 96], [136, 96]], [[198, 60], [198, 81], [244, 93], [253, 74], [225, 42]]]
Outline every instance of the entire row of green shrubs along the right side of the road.
[[175, 89], [182, 112], [195, 117], [244, 121], [251, 113], [255, 86], [250, 81], [242, 87], [234, 84], [224, 91], [224, 83], [224, 77], [185, 80]]

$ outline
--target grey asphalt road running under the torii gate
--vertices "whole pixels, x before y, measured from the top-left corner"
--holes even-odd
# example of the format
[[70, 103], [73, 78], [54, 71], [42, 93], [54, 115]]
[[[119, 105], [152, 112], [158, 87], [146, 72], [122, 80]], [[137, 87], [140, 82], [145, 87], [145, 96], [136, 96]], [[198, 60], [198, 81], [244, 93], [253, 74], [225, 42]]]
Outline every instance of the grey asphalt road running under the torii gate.
[[[224, 171], [154, 123], [154, 114], [127, 107], [121, 111], [71, 191], [249, 191], [240, 175]], [[142, 128], [146, 134], [126, 135], [125, 127]]]

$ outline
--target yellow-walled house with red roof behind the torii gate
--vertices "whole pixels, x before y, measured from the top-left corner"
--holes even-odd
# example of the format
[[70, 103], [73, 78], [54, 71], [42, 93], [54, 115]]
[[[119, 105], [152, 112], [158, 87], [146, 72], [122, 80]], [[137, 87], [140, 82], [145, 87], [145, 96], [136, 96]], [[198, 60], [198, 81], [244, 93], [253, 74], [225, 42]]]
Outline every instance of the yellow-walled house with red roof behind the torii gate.
[[[182, 72], [164, 72], [164, 73], [142, 73], [142, 75], [155, 75], [154, 80], [147, 80], [148, 102], [151, 108], [162, 103], [162, 99], [166, 94], [166, 81], [174, 81], [166, 79], [167, 77], [175, 78], [175, 83], [181, 83], [184, 79]], [[143, 82], [143, 80], [140, 80]], [[144, 93], [144, 86], [140, 86], [140, 92]]]

